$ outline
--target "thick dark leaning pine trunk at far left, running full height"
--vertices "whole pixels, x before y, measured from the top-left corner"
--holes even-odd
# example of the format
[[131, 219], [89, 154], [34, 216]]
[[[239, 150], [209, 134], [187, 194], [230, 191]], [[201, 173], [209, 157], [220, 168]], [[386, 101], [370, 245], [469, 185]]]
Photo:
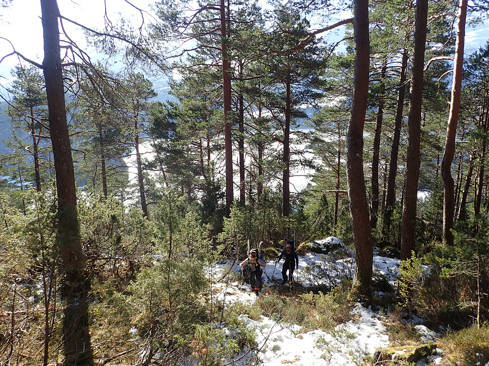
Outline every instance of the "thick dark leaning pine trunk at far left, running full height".
[[66, 118], [57, 1], [41, 0], [41, 11], [44, 36], [43, 70], [58, 194], [56, 246], [65, 275], [63, 297], [66, 307], [62, 337], [64, 365], [93, 365], [88, 326], [89, 279], [76, 209], [75, 173]]

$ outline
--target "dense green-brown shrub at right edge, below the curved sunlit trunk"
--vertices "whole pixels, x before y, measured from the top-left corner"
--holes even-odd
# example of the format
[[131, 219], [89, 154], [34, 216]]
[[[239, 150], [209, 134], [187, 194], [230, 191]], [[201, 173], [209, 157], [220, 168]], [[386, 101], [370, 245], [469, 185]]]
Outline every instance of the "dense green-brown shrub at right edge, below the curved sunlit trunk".
[[489, 319], [489, 297], [478, 292], [488, 288], [489, 278], [487, 249], [479, 239], [455, 235], [455, 240], [456, 245], [435, 245], [424, 258], [413, 255], [402, 262], [399, 285], [403, 309], [456, 329]]

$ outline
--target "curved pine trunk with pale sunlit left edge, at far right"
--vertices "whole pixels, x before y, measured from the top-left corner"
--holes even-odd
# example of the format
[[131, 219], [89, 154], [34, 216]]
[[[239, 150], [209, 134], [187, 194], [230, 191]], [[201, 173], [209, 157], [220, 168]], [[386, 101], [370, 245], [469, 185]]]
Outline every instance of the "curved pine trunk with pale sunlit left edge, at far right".
[[443, 240], [446, 245], [453, 245], [453, 217], [455, 214], [454, 187], [451, 174], [453, 156], [455, 155], [455, 134], [460, 111], [460, 92], [464, 65], [465, 23], [467, 18], [467, 0], [460, 0], [455, 42], [455, 59], [453, 60], [453, 82], [450, 113], [446, 126], [445, 152], [442, 159], [443, 181]]

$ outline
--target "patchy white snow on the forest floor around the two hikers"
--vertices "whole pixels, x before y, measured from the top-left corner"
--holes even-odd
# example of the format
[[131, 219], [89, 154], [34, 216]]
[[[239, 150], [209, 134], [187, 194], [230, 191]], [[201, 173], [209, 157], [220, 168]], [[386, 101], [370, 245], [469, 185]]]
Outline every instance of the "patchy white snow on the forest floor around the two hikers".
[[[327, 238], [331, 242], [335, 238]], [[314, 242], [316, 247], [321, 247], [325, 241]], [[341, 243], [342, 244], [342, 243]], [[340, 246], [341, 246], [340, 244]], [[340, 247], [340, 249], [342, 249]], [[328, 254], [308, 254], [299, 256], [299, 270], [294, 274], [301, 286], [311, 286], [320, 283], [319, 271], [329, 273], [330, 279], [323, 281], [336, 281], [341, 276], [353, 274], [353, 261], [351, 258], [327, 260]], [[282, 263], [279, 263], [275, 271], [275, 261], [268, 260], [266, 266], [267, 276], [264, 275], [264, 286], [276, 285], [275, 280], [281, 281]], [[218, 300], [224, 303], [244, 302], [253, 303], [256, 295], [251, 292], [248, 284], [238, 281], [225, 281], [225, 273], [240, 273], [239, 261], [229, 270], [229, 264], [218, 264], [209, 272], [213, 279], [214, 292], [217, 292]], [[311, 280], [311, 268], [317, 269], [317, 281]], [[375, 256], [375, 272], [384, 275], [388, 281], [395, 281], [399, 274], [399, 260]], [[322, 273], [324, 274], [324, 273]], [[270, 282], [269, 279], [272, 279]], [[267, 295], [260, 295], [267, 296]], [[322, 366], [322, 365], [363, 365], [362, 358], [372, 356], [376, 348], [389, 346], [386, 322], [384, 316], [356, 304], [352, 310], [352, 319], [347, 323], [337, 325], [333, 332], [327, 333], [321, 330], [307, 331], [299, 325], [291, 325], [284, 322], [276, 322], [262, 316], [259, 320], [252, 320], [248, 314], [242, 314], [242, 320], [252, 327], [256, 333], [256, 341], [261, 352], [257, 355], [264, 365], [279, 366], [290, 364], [295, 366]], [[419, 329], [418, 329], [419, 328]], [[429, 332], [426, 327], [419, 325], [417, 328], [420, 339], [433, 340], [436, 334]], [[440, 358], [435, 357], [433, 361]], [[426, 365], [420, 361], [418, 365]]]

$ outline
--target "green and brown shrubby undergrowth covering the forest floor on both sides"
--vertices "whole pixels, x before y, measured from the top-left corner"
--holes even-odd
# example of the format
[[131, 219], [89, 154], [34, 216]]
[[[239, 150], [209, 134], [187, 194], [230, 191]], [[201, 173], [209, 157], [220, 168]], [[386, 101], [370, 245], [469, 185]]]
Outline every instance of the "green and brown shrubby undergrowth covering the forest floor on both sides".
[[[1, 362], [59, 363], [64, 357], [60, 345], [65, 304], [59, 295], [63, 276], [54, 245], [53, 201], [30, 191], [22, 197], [25, 211], [0, 195]], [[91, 283], [90, 337], [99, 365], [155, 360], [159, 365], [183, 360], [220, 365], [237, 354], [247, 355], [246, 362], [254, 364], [260, 345], [244, 315], [256, 321], [266, 316], [284, 327], [298, 325], [301, 332], [321, 329], [330, 334], [352, 320], [353, 272], [343, 265], [352, 260], [348, 247], [304, 267], [301, 275], [309, 288], [272, 286], [253, 304], [222, 304], [217, 282], [242, 278], [232, 271], [210, 273], [209, 264], [244, 257], [249, 212], [234, 207], [223, 221], [222, 234], [213, 238], [209, 232], [214, 229], [202, 222], [198, 209], [171, 190], [164, 192], [151, 221], [111, 198], [83, 196], [78, 210]], [[273, 240], [279, 241], [279, 231]], [[488, 288], [488, 253], [482, 239], [456, 238], [457, 247], [433, 244], [424, 257], [414, 255], [403, 262], [397, 286], [377, 271], [374, 302], [387, 316], [393, 346], [420, 343], [409, 324], [418, 316], [439, 332], [446, 362], [469, 365], [489, 357], [484, 324], [488, 298], [483, 290]], [[312, 244], [300, 245], [301, 255], [317, 252], [313, 249]], [[279, 251], [280, 246], [270, 242], [264, 250], [268, 258]], [[341, 267], [333, 265], [337, 261]], [[346, 337], [336, 335], [338, 340]], [[321, 342], [316, 346], [325, 359], [337, 351]]]

